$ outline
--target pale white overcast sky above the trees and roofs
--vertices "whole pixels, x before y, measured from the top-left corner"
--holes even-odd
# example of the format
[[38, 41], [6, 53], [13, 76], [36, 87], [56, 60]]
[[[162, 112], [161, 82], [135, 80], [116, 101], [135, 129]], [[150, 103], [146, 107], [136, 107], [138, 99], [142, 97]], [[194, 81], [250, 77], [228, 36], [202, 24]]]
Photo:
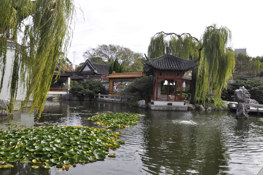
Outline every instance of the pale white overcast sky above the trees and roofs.
[[[75, 0], [84, 13], [77, 21], [68, 58], [84, 62], [83, 52], [98, 44], [118, 44], [147, 54], [155, 33], [190, 33], [200, 38], [205, 27], [217, 23], [232, 31], [233, 48], [246, 47], [250, 56], [262, 56], [263, 1], [143, 1]], [[79, 4], [79, 5], [78, 5]]]

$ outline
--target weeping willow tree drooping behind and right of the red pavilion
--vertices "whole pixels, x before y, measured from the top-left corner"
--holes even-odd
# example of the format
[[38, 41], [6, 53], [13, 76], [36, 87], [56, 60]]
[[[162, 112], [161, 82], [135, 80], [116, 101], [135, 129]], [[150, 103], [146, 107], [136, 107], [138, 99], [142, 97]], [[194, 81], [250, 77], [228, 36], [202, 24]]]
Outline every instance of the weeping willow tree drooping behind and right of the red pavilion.
[[165, 47], [170, 47], [174, 56], [197, 61], [192, 71], [193, 92], [191, 103], [206, 102], [208, 92], [219, 99], [222, 89], [232, 78], [235, 68], [234, 53], [227, 49], [231, 42], [231, 31], [226, 27], [217, 28], [216, 24], [206, 27], [198, 40], [189, 33], [159, 32], [148, 46], [148, 57], [157, 58], [165, 54]]

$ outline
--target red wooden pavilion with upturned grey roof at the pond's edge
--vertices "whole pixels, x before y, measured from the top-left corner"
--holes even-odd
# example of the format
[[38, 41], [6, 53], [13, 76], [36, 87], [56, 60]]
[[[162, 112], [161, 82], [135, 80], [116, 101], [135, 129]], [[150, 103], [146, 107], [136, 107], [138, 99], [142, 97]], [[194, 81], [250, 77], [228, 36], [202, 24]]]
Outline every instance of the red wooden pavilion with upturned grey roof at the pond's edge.
[[[169, 47], [166, 47], [166, 53], [155, 59], [146, 57], [147, 62], [144, 64], [145, 71], [150, 71], [153, 76], [151, 102], [154, 105], [152, 106], [172, 103], [172, 106], [177, 106], [175, 110], [187, 110], [187, 106], [184, 106], [185, 97], [182, 96], [183, 76], [186, 71], [192, 70], [196, 66], [197, 60], [185, 60], [170, 55]], [[165, 80], [168, 83], [163, 86]], [[179, 94], [177, 94], [178, 89], [180, 90]], [[178, 108], [178, 106], [181, 107]]]

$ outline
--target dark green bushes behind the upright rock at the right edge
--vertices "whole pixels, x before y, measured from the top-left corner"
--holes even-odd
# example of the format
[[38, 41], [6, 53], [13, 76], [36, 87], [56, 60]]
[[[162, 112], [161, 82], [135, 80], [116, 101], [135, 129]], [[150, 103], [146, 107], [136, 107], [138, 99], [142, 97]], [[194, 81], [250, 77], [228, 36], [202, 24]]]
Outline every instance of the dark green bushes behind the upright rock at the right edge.
[[257, 100], [259, 104], [263, 104], [263, 79], [252, 78], [249, 80], [236, 80], [228, 84], [227, 91], [233, 95], [236, 89], [244, 86], [250, 93], [250, 98]]

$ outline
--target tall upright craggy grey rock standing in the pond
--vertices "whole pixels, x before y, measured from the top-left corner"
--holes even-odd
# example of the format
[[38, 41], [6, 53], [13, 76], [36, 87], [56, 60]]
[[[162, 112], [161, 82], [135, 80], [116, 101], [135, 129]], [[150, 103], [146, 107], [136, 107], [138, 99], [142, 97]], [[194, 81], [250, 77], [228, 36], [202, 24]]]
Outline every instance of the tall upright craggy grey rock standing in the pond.
[[238, 102], [238, 106], [236, 109], [236, 118], [238, 119], [248, 119], [248, 112], [250, 109], [250, 94], [246, 88], [240, 87], [236, 89], [234, 92], [236, 101]]

